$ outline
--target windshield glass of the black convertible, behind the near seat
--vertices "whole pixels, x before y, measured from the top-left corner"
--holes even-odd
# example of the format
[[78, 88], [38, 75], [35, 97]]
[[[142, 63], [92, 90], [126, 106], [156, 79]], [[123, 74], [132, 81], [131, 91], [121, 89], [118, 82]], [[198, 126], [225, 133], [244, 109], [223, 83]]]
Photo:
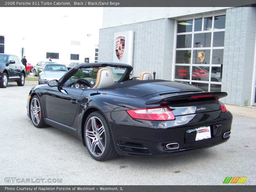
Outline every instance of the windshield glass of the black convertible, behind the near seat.
[[[112, 72], [114, 81], [119, 81], [124, 75], [127, 68], [116, 68], [116, 67], [100, 67], [108, 68]], [[98, 70], [100, 68], [81, 68], [67, 81], [76, 81], [77, 79], [86, 79], [87, 81], [96, 81]]]

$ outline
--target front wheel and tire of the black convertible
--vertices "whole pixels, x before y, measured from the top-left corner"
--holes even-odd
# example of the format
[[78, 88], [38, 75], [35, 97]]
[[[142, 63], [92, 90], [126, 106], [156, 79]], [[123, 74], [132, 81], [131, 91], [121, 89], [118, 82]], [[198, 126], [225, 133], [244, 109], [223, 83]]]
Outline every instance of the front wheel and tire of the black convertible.
[[[39, 111], [38, 111], [39, 109]], [[37, 95], [34, 95], [31, 99], [30, 105], [30, 119], [32, 123], [37, 128], [46, 127], [47, 124], [44, 123], [44, 112], [40, 99]]]

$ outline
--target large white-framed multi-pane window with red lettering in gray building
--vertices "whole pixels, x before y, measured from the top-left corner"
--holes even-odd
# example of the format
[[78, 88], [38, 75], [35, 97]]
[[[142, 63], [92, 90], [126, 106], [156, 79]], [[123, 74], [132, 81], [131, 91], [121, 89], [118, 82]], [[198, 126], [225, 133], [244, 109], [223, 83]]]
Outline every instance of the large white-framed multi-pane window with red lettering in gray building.
[[221, 91], [225, 15], [177, 21], [174, 80]]

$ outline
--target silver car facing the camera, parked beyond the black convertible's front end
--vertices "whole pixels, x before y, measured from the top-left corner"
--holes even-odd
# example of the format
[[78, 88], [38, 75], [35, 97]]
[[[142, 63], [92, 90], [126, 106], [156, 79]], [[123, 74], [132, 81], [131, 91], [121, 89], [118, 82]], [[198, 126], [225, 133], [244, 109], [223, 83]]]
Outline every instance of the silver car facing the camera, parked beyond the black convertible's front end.
[[39, 73], [38, 84], [47, 84], [53, 79], [59, 80], [67, 71], [68, 68], [65, 65], [47, 64], [44, 70]]

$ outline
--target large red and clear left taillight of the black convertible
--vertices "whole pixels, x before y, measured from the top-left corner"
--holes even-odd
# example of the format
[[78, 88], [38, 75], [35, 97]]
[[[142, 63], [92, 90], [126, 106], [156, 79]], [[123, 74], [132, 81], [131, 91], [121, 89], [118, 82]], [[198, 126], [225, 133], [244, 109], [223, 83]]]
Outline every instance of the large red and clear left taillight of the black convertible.
[[175, 116], [167, 107], [144, 108], [126, 110], [134, 119], [145, 119], [154, 121], [174, 120]]

